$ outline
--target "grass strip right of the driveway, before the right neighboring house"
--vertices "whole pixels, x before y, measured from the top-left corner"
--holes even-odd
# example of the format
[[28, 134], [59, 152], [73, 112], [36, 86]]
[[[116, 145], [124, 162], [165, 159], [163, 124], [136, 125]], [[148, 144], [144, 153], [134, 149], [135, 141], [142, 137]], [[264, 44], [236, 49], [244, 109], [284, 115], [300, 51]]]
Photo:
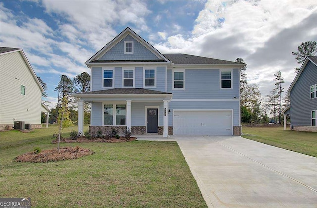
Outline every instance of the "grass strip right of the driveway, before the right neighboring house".
[[283, 127], [242, 127], [242, 137], [317, 157], [317, 133], [283, 130]]

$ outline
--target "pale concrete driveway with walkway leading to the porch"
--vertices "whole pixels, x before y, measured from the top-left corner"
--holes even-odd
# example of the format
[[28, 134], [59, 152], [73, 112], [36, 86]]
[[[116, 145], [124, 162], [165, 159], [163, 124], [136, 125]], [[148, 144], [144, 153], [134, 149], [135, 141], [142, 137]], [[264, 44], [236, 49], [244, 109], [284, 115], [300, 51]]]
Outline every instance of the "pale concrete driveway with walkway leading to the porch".
[[172, 136], [208, 207], [316, 208], [317, 158], [240, 136]]

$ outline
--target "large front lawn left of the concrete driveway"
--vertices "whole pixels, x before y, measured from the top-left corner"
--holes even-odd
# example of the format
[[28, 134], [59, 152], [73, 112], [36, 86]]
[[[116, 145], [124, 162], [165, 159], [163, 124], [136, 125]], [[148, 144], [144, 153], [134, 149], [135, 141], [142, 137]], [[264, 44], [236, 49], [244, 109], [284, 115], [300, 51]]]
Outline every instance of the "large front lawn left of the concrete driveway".
[[176, 142], [62, 143], [95, 154], [50, 163], [13, 161], [34, 147], [57, 147], [50, 143], [53, 128], [1, 132], [0, 197], [30, 197], [32, 207], [207, 207]]

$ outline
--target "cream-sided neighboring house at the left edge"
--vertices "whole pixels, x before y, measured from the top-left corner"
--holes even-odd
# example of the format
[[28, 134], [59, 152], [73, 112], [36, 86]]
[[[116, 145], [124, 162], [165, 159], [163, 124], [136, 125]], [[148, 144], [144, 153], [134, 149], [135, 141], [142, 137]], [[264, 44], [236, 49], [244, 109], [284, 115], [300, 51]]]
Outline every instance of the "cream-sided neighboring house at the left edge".
[[41, 128], [44, 91], [22, 49], [0, 47], [0, 129], [10, 129], [15, 121]]

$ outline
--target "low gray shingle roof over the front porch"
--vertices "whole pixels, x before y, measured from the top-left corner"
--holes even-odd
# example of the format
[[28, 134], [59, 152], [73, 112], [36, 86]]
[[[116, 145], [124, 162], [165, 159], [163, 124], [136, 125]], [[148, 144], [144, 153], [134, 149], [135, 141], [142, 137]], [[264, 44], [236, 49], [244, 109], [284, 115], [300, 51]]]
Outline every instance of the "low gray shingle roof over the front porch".
[[92, 91], [92, 92], [77, 93], [74, 95], [84, 95], [84, 94], [171, 94], [171, 93], [155, 91], [150, 89], [143, 89], [143, 88], [133, 88], [133, 89], [115, 88], [115, 89], [105, 89], [105, 90], [98, 90], [98, 91]]

